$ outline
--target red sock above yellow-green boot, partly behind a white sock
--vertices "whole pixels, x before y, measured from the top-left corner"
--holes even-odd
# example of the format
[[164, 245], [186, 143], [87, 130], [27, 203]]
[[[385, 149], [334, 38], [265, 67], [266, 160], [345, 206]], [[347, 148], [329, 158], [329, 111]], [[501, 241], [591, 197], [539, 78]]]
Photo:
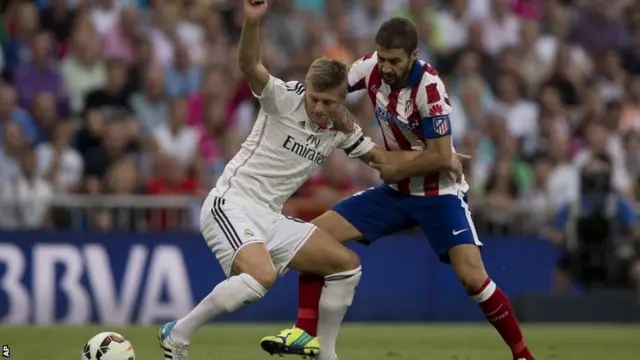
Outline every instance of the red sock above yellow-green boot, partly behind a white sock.
[[324, 286], [324, 278], [317, 275], [300, 274], [298, 279], [298, 321], [296, 327], [311, 336], [318, 330], [318, 304]]

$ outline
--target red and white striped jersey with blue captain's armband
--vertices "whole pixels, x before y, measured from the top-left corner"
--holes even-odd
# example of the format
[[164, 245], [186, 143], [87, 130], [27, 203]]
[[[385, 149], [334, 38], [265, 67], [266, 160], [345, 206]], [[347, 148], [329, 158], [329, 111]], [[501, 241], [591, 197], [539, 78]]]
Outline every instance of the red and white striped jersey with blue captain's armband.
[[[382, 80], [377, 53], [368, 54], [349, 70], [349, 90], [365, 89], [387, 150], [423, 150], [425, 140], [451, 135], [451, 103], [431, 65], [417, 60], [407, 87], [392, 89]], [[457, 195], [469, 190], [464, 178], [459, 184], [444, 173], [415, 176], [390, 186], [401, 193], [422, 196]]]

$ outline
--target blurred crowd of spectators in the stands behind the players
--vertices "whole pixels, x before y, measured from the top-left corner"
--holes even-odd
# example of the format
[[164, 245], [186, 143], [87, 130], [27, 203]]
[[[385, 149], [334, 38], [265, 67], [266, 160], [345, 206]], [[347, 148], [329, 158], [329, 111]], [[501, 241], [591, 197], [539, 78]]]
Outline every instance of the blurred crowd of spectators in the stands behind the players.
[[[274, 0], [263, 62], [288, 80], [317, 57], [353, 62], [394, 15], [447, 85], [484, 231], [552, 224], [593, 161], [640, 199], [640, 1]], [[239, 0], [3, 1], [0, 228], [192, 226], [257, 113], [241, 26]], [[380, 141], [365, 94], [349, 106]], [[377, 182], [335, 154], [285, 212], [310, 219]]]

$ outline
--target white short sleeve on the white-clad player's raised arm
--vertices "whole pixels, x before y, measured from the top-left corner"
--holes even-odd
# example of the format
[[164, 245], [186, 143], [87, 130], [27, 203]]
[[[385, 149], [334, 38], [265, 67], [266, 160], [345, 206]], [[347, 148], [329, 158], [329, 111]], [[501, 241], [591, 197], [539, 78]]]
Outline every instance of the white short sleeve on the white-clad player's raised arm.
[[277, 77], [270, 76], [269, 82], [262, 90], [262, 94], [256, 94], [251, 90], [253, 96], [258, 99], [262, 110], [270, 115], [288, 114], [300, 102], [304, 95], [304, 85], [298, 81], [284, 82]]

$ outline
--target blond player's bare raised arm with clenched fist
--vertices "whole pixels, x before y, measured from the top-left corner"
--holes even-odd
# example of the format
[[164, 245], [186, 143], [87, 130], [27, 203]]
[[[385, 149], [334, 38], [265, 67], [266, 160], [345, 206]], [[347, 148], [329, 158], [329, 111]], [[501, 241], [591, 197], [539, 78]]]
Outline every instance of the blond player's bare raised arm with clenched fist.
[[270, 78], [269, 71], [260, 62], [260, 19], [266, 10], [266, 0], [244, 0], [245, 18], [239, 47], [240, 70], [256, 94], [262, 94]]

